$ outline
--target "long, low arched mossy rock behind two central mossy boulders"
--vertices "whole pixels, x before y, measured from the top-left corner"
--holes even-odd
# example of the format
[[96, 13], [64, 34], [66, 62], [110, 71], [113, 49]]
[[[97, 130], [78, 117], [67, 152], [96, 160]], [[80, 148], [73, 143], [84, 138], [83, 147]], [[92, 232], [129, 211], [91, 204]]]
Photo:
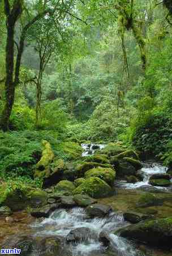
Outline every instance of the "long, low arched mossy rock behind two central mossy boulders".
[[101, 163], [96, 163], [96, 162], [84, 162], [82, 164], [79, 164], [76, 167], [76, 171], [78, 171], [78, 177], [83, 177], [85, 172], [88, 170], [91, 170], [96, 167], [103, 167], [103, 168], [113, 168], [111, 164], [101, 164]]

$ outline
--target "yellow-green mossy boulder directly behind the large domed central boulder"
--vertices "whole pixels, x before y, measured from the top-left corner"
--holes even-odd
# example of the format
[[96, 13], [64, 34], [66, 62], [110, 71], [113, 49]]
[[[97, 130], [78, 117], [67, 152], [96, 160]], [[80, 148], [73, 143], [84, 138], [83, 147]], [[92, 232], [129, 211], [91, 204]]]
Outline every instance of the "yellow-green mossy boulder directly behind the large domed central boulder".
[[99, 177], [111, 186], [114, 184], [115, 176], [115, 171], [110, 168], [97, 167], [85, 172], [86, 178]]

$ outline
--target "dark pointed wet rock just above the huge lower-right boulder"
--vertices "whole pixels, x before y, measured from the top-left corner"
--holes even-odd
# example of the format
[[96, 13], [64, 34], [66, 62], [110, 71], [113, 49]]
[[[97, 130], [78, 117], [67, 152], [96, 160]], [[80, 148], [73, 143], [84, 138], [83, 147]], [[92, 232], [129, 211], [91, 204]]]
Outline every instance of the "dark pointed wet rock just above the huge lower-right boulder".
[[123, 213], [124, 220], [131, 222], [132, 224], [139, 223], [140, 221], [147, 220], [148, 218], [152, 218], [151, 215], [143, 214], [134, 211], [128, 211]]

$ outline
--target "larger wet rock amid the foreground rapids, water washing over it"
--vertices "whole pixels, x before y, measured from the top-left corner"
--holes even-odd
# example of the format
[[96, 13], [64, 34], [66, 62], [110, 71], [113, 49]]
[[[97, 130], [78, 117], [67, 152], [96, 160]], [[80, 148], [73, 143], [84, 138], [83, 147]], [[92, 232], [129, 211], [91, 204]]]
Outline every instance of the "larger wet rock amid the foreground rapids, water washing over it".
[[94, 238], [95, 236], [96, 233], [94, 233], [93, 230], [90, 230], [89, 228], [76, 228], [68, 233], [66, 241], [68, 243], [88, 242], [89, 239]]

